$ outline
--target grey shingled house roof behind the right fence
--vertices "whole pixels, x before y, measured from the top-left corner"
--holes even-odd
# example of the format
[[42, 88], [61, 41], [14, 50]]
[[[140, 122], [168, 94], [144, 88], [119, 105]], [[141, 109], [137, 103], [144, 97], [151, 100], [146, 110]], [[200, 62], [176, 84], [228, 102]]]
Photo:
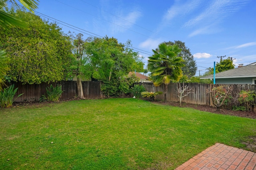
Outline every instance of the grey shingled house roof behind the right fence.
[[[246, 77], [256, 77], [256, 62], [249, 64], [247, 66], [242, 66], [234, 68], [231, 70], [226, 70], [223, 72], [218, 72], [215, 74], [215, 78], [246, 78]], [[213, 78], [213, 74], [209, 76], [201, 77], [200, 79]]]

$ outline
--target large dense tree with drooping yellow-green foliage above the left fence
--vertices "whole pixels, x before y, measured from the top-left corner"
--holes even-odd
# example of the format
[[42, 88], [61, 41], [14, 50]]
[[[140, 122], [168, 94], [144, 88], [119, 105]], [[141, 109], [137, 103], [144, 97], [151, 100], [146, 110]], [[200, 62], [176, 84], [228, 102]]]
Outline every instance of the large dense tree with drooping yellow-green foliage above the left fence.
[[21, 10], [10, 14], [22, 18], [27, 27], [0, 25], [0, 48], [10, 60], [8, 77], [24, 84], [40, 84], [67, 79], [72, 73], [72, 44], [55, 23]]

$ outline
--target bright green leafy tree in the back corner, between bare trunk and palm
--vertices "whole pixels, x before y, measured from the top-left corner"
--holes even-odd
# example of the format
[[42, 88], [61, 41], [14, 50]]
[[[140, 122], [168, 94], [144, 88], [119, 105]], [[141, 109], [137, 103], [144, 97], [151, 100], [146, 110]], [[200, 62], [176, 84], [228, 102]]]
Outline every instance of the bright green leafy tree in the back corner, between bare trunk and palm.
[[107, 36], [94, 38], [86, 43], [86, 54], [94, 68], [92, 77], [104, 82], [102, 90], [107, 96], [118, 94], [120, 79], [130, 71], [143, 71], [138, 53], [130, 49], [130, 46], [130, 41], [122, 44]]

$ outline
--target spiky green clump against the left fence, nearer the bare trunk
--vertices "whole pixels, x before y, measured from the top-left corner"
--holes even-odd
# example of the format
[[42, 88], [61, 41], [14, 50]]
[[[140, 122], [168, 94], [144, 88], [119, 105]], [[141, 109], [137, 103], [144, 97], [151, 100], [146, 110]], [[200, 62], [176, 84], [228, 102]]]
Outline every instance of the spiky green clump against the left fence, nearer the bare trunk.
[[50, 101], [50, 102], [57, 102], [62, 94], [63, 90], [61, 86], [53, 87], [52, 84], [50, 87], [46, 87], [46, 95], [42, 95], [39, 99], [39, 102], [43, 101]]

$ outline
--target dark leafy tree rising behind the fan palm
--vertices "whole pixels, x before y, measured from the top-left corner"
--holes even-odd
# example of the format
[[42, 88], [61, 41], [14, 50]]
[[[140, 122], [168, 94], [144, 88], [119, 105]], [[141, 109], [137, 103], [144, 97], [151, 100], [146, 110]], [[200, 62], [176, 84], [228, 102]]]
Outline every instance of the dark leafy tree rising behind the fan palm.
[[182, 41], [168, 41], [164, 43], [167, 45], [178, 45], [178, 47], [181, 49], [178, 57], [182, 57], [184, 60], [182, 63], [185, 64], [185, 66], [182, 67], [183, 74], [186, 74], [188, 77], [194, 76], [197, 70], [196, 61], [194, 60], [194, 56], [190, 53], [190, 49], [186, 47], [185, 43]]

